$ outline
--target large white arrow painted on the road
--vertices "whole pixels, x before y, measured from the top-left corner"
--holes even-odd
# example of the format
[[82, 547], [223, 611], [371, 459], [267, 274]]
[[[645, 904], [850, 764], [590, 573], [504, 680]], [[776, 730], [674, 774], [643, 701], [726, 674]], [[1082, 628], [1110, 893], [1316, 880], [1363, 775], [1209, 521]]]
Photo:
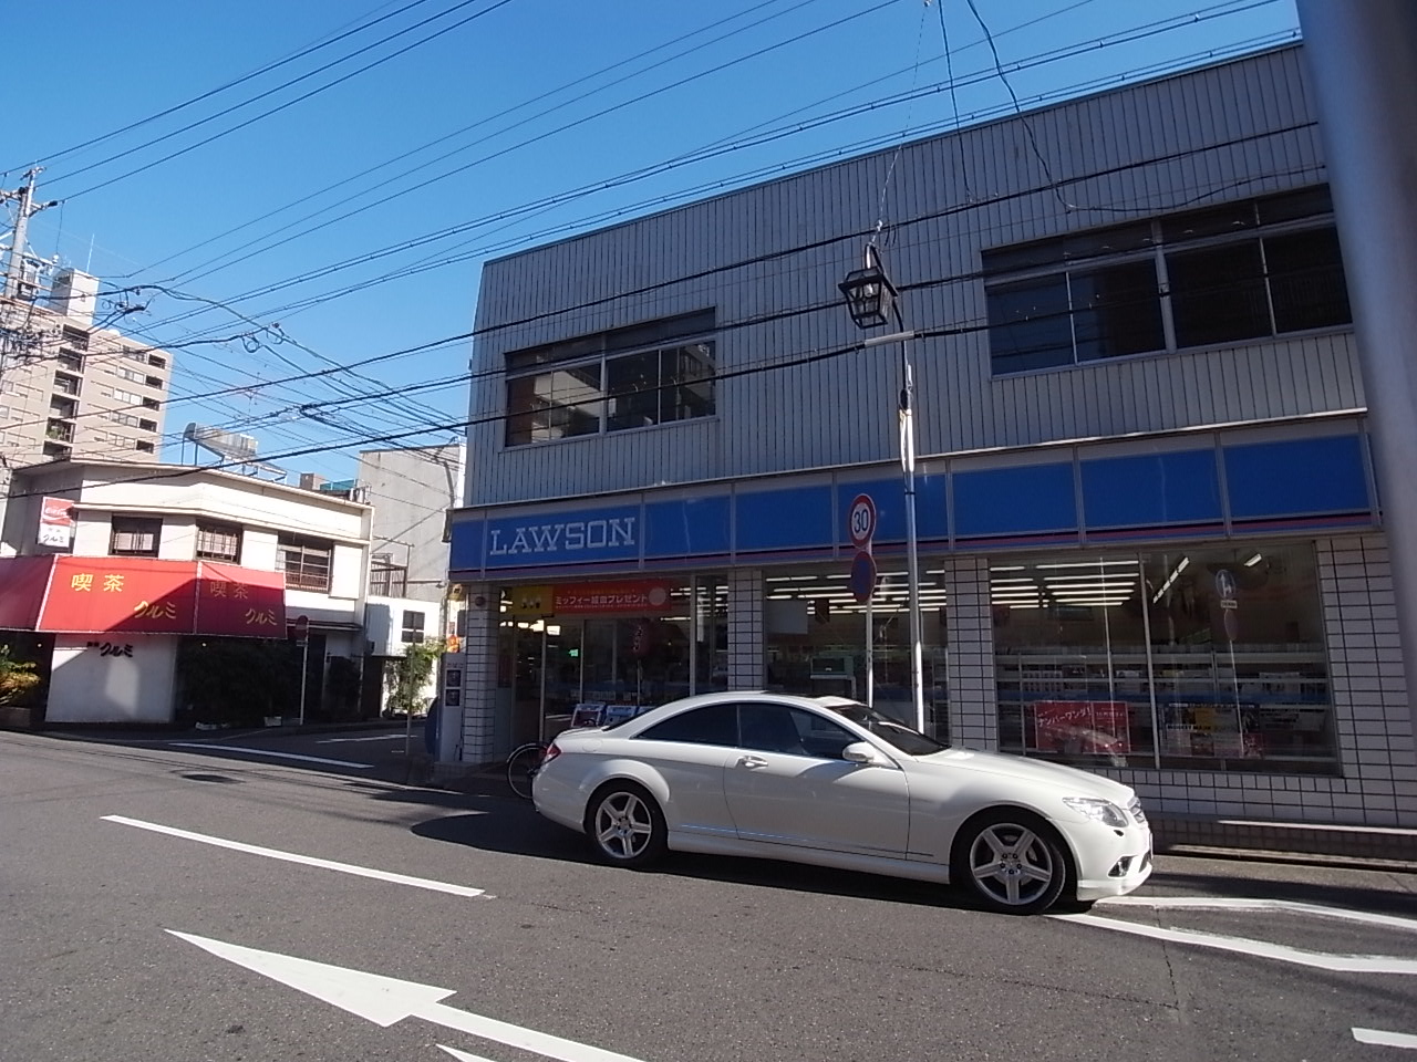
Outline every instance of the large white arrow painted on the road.
[[496, 1018], [485, 1018], [480, 1014], [469, 1014], [441, 1003], [452, 995], [455, 988], [401, 981], [395, 977], [349, 970], [343, 966], [316, 963], [310, 959], [296, 959], [278, 952], [258, 952], [254, 947], [228, 944], [193, 933], [179, 933], [176, 929], [167, 932], [190, 944], [197, 944], [218, 959], [244, 966], [247, 970], [254, 970], [272, 981], [303, 991], [384, 1028], [402, 1018], [422, 1018], [449, 1029], [560, 1059], [560, 1062], [639, 1062], [629, 1055], [618, 1055], [589, 1044], [578, 1044], [574, 1039], [563, 1039], [548, 1032], [537, 1032]]

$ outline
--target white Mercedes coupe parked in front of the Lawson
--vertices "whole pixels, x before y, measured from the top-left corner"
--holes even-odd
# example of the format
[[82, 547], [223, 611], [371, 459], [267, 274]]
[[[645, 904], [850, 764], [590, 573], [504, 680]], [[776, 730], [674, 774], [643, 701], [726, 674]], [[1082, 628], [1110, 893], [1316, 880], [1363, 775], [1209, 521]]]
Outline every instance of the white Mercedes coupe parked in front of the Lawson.
[[955, 882], [1032, 915], [1138, 888], [1152, 838], [1127, 786], [955, 749], [840, 697], [687, 697], [551, 742], [536, 809], [597, 857], [667, 848]]

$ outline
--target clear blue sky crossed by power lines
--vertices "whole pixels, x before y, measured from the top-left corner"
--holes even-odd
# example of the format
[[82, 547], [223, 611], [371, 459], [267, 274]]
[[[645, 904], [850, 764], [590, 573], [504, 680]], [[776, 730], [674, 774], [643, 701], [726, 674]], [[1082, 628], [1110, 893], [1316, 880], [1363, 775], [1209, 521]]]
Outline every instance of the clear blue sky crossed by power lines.
[[1292, 0], [975, 6], [1007, 86], [968, 0], [40, 4], [0, 187], [43, 166], [31, 249], [174, 350], [164, 460], [197, 421], [346, 479], [455, 438], [486, 258], [1298, 35]]

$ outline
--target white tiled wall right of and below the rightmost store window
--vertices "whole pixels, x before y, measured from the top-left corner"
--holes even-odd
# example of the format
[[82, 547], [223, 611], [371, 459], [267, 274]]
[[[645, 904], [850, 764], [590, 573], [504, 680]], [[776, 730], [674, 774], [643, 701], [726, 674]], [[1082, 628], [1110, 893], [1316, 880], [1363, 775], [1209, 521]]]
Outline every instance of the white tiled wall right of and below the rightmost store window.
[[1315, 542], [1342, 776], [1107, 770], [1162, 814], [1417, 826], [1417, 755], [1383, 535]]

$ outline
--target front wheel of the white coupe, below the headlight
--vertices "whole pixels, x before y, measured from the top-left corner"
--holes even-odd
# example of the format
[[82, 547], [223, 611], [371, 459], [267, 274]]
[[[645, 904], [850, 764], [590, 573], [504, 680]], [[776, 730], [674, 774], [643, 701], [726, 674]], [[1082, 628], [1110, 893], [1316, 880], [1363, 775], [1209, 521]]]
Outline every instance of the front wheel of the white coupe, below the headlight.
[[949, 877], [990, 910], [1036, 915], [1063, 893], [1068, 864], [1041, 818], [1003, 809], [965, 824]]

